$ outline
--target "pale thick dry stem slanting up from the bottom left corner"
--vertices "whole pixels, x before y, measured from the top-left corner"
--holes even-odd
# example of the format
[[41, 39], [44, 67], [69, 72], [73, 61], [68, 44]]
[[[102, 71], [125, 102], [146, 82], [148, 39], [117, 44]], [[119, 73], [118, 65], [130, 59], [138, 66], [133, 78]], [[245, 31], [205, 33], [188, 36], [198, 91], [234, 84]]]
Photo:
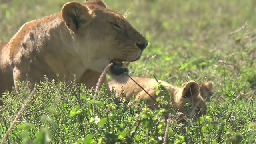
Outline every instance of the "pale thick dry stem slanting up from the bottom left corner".
[[20, 114], [22, 113], [22, 111], [26, 108], [26, 106], [28, 105], [28, 102], [30, 102], [32, 96], [35, 94], [36, 92], [36, 88], [33, 89], [33, 91], [31, 92], [30, 96], [28, 97], [28, 99], [26, 100], [26, 102], [22, 105], [22, 107], [20, 108], [18, 114], [16, 115], [16, 117], [14, 118], [12, 125], [10, 126], [10, 128], [8, 129], [8, 131], [4, 134], [4, 137], [1, 141], [1, 144], [4, 144], [4, 140], [6, 139], [6, 137], [9, 135], [10, 131], [12, 130], [12, 128], [15, 125], [15, 122], [20, 118]]

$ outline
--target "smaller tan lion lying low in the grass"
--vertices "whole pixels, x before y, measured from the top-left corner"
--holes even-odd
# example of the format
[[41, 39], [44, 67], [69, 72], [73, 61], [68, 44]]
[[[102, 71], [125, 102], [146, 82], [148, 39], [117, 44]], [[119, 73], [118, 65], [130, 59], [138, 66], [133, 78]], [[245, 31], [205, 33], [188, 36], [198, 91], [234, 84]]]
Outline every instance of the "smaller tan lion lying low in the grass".
[[[156, 91], [158, 91], [158, 88], [154, 89], [154, 87], [158, 84], [155, 79], [142, 77], [133, 77], [133, 79], [156, 100], [159, 94], [156, 95]], [[161, 80], [158, 80], [158, 82], [164, 85], [166, 89], [170, 92], [172, 96], [171, 101], [174, 106], [175, 112], [182, 112], [186, 115], [206, 114], [206, 104], [204, 102], [204, 99], [209, 98], [212, 95], [212, 82], [198, 84], [195, 81], [189, 81], [182, 84], [180, 88]], [[128, 82], [125, 84], [120, 84], [116, 81], [112, 81], [109, 83], [109, 86], [110, 89], [112, 87], [116, 88], [116, 98], [119, 98], [119, 95], [124, 92], [125, 97], [121, 99], [129, 100], [134, 94], [135, 101], [138, 101], [140, 99], [148, 99], [150, 100], [147, 103], [147, 106], [149, 108], [158, 108], [158, 104], [156, 104], [156, 102], [152, 100], [152, 98], [131, 79], [129, 79]], [[189, 110], [187, 112], [186, 107], [184, 106], [186, 103], [190, 103], [193, 106], [193, 110]]]

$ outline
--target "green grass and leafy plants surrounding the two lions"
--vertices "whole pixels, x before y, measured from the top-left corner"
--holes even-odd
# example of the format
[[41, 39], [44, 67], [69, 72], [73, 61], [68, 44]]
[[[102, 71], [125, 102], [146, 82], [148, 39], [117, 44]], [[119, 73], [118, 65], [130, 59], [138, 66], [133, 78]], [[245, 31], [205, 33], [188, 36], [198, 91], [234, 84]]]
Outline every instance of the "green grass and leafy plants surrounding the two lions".
[[[0, 41], [8, 42], [29, 20], [60, 11], [65, 2], [1, 0]], [[130, 12], [127, 19], [149, 42], [142, 58], [130, 64], [130, 75], [154, 75], [176, 86], [186, 80], [214, 82], [207, 115], [188, 126], [170, 122], [169, 143], [256, 143], [254, 0], [105, 2], [112, 10]], [[164, 110], [127, 111], [124, 104], [106, 99], [102, 89], [95, 120], [92, 92], [74, 87], [70, 94], [65, 86], [47, 79], [36, 86], [36, 94], [10, 132], [10, 143], [163, 142]], [[28, 95], [22, 87], [3, 96], [1, 139]]]

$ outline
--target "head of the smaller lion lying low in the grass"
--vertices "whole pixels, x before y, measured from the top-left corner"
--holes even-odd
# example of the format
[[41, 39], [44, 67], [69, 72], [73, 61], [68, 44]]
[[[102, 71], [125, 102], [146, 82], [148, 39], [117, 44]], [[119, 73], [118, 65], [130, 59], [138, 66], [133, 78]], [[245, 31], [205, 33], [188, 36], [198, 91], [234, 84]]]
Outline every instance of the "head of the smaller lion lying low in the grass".
[[[206, 115], [207, 108], [204, 98], [212, 93], [212, 87], [206, 87], [206, 85], [209, 86], [208, 84], [210, 83], [201, 84], [201, 87], [195, 81], [182, 84], [175, 99], [176, 103], [178, 103], [176, 106], [177, 109], [179, 109], [178, 111], [183, 112], [184, 114], [190, 114], [190, 116], [194, 116], [194, 114]], [[202, 97], [201, 94], [205, 97]], [[192, 111], [187, 110], [186, 106], [184, 106], [186, 103], [189, 103], [190, 106], [192, 106]]]

